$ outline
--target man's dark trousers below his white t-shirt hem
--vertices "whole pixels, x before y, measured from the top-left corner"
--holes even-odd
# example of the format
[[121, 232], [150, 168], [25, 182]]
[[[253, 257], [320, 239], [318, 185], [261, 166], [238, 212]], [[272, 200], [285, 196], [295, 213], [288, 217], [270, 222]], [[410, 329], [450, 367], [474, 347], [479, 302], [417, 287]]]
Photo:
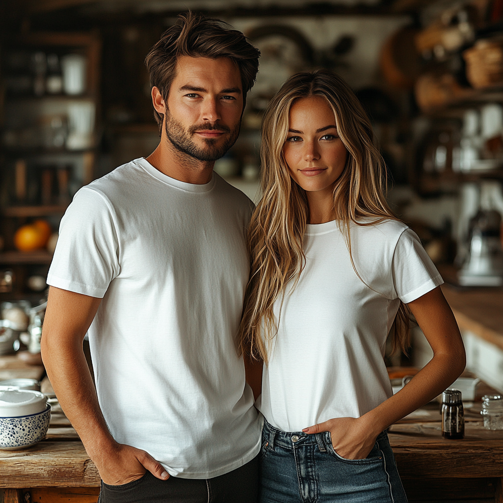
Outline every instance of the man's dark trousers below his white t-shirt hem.
[[259, 457], [219, 477], [160, 480], [150, 472], [123, 485], [101, 483], [98, 503], [257, 503]]

